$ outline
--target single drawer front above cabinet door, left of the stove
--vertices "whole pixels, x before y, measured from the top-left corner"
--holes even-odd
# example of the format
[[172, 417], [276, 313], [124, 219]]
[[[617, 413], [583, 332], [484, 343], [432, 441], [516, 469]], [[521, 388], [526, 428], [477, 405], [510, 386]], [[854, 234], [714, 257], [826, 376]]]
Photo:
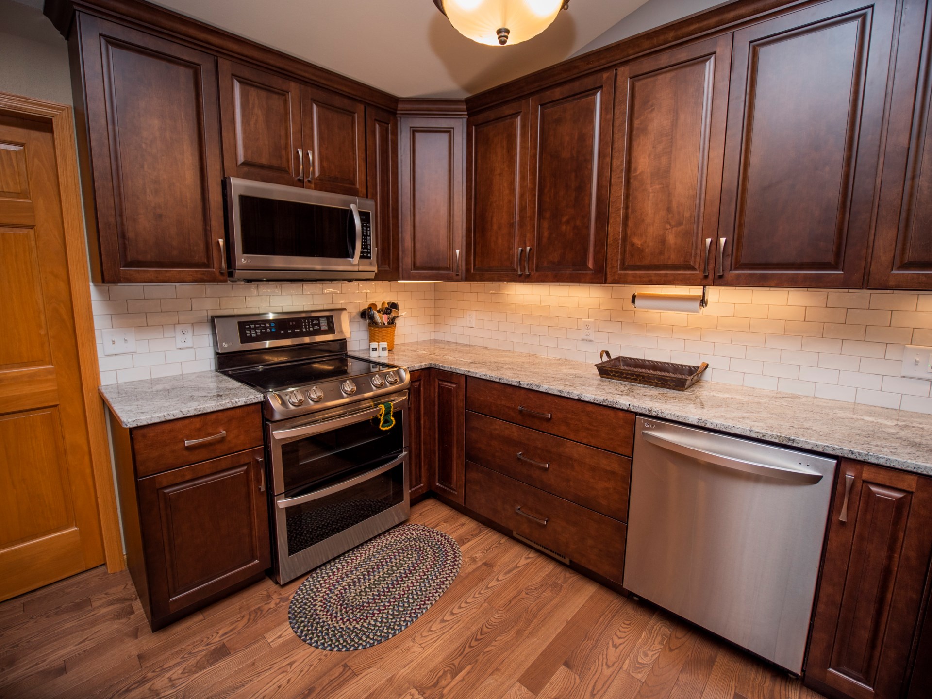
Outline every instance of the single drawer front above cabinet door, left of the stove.
[[142, 478], [262, 445], [262, 413], [259, 404], [243, 405], [131, 433], [136, 475]]

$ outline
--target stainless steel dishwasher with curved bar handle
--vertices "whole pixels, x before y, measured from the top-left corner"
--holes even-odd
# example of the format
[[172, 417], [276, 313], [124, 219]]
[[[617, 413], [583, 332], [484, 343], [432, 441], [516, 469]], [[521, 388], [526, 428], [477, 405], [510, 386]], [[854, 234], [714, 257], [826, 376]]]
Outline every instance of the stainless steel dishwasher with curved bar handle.
[[837, 461], [635, 425], [624, 587], [801, 673]]

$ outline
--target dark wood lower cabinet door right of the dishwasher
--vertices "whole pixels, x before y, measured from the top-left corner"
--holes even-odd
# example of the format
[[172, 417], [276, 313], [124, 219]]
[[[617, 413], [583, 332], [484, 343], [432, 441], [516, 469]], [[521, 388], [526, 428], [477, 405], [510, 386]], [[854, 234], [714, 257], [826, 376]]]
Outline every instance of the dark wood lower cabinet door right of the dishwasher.
[[932, 478], [843, 461], [805, 682], [894, 699], [905, 689], [932, 554]]

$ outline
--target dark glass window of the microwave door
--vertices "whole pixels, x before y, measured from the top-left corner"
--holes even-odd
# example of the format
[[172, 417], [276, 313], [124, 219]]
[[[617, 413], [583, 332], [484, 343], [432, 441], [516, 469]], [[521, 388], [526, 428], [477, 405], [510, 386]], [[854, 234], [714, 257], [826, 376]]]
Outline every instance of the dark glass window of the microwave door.
[[352, 212], [336, 206], [240, 195], [243, 254], [347, 259], [356, 248]]

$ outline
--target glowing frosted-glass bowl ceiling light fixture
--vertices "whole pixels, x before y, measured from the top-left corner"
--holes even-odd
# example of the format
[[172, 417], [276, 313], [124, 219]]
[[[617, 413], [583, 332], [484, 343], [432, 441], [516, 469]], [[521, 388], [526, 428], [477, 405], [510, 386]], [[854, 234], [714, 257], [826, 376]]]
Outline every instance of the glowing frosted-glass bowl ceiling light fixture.
[[520, 44], [541, 34], [569, 0], [433, 0], [459, 34], [488, 46]]

